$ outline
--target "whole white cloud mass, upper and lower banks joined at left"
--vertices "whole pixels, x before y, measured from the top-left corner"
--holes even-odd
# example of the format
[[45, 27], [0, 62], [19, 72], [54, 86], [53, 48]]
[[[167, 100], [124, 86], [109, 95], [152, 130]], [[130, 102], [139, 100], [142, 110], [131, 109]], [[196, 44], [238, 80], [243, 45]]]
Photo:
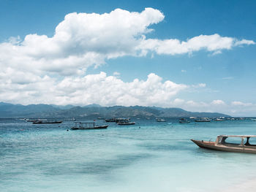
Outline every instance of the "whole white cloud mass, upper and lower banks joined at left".
[[112, 12], [77, 13], [65, 16], [53, 37], [28, 34], [24, 39], [10, 37], [0, 43], [0, 100], [22, 104], [158, 105], [184, 103], [174, 96], [186, 88], [206, 84], [182, 85], [148, 74], [147, 80], [124, 82], [118, 73], [107, 76], [86, 74], [90, 66], [100, 66], [110, 58], [124, 55], [186, 54], [199, 50], [219, 53], [233, 47], [252, 45], [247, 39], [219, 34], [179, 39], [147, 39], [151, 26], [164, 20], [157, 9], [142, 12], [115, 9]]

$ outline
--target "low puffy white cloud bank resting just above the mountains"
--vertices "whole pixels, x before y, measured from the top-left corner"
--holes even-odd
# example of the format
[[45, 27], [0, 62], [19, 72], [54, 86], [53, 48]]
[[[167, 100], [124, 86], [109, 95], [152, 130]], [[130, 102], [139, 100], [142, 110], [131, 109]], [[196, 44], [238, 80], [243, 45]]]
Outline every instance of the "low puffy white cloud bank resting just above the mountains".
[[107, 76], [105, 72], [100, 72], [84, 77], [65, 77], [59, 82], [48, 76], [26, 84], [1, 82], [0, 100], [22, 104], [97, 103], [105, 106], [117, 104], [170, 107], [171, 99], [187, 87], [170, 80], [162, 82], [162, 78], [153, 73], [148, 74], [146, 80], [135, 79], [132, 82], [124, 82], [118, 77]]

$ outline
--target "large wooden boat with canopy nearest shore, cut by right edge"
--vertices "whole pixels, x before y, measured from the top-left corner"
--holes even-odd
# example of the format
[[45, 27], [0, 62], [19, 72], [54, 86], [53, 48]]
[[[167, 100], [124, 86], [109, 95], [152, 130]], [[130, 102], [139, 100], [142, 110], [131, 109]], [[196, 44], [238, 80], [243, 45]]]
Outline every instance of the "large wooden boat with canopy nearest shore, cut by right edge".
[[[230, 143], [225, 142], [228, 137], [241, 138], [240, 143]], [[195, 142], [196, 145], [202, 148], [210, 150], [221, 150], [227, 152], [236, 152], [236, 153], [255, 153], [256, 154], [256, 145], [251, 145], [249, 139], [256, 137], [256, 135], [219, 135], [215, 142], [206, 142], [200, 140], [191, 139], [192, 142]]]

